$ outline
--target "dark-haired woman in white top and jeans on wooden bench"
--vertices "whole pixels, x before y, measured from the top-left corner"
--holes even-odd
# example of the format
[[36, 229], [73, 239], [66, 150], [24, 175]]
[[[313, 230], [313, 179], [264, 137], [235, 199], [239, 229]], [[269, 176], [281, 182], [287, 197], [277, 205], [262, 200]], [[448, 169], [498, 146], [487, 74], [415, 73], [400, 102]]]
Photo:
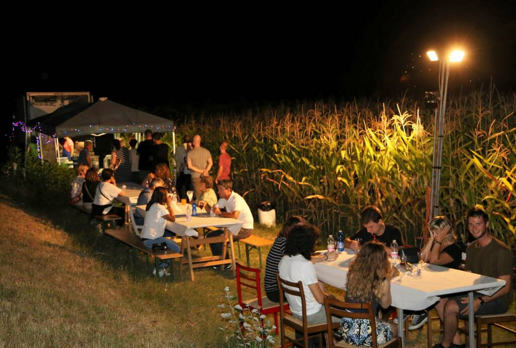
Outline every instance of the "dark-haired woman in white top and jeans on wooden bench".
[[[168, 208], [165, 208], [164, 204], [167, 204]], [[179, 252], [179, 245], [164, 237], [167, 221], [175, 221], [172, 197], [167, 196], [167, 189], [165, 187], [156, 187], [154, 189], [151, 200], [147, 203], [145, 210], [147, 213], [140, 235], [143, 245], [152, 248], [153, 244], [165, 243], [169, 251]], [[159, 270], [154, 270], [153, 274], [158, 272], [159, 277], [163, 277], [167, 274], [165, 272], [167, 265], [166, 262], [160, 263], [158, 266]]]

